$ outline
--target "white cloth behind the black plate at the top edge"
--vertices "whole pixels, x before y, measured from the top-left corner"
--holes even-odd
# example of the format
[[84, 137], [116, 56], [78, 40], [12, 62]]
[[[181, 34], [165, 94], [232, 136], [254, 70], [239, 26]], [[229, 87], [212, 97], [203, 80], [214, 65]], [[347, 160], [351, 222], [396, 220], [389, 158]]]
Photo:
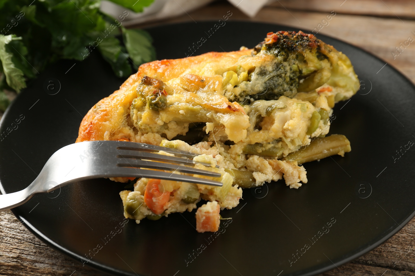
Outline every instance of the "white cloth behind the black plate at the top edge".
[[[205, 6], [214, 0], [154, 0], [149, 6], [145, 7], [141, 13], [128, 11], [123, 22], [126, 26], [143, 22], [156, 21], [157, 19], [166, 19], [179, 16]], [[232, 5], [244, 12], [250, 17], [255, 14], [269, 2], [273, 0], [228, 0]], [[101, 10], [107, 14], [118, 18], [126, 10], [125, 7], [114, 4], [113, 2], [103, 0], [101, 2]], [[125, 13], [124, 13], [125, 15]], [[195, 19], [194, 19], [195, 20]]]

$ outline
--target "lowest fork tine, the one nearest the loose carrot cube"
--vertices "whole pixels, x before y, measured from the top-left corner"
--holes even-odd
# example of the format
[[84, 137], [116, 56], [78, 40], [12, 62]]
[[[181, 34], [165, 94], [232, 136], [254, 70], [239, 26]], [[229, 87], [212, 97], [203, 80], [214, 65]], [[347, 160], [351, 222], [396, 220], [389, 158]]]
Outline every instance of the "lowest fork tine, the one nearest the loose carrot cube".
[[118, 177], [118, 176], [140, 177], [140, 178], [146, 177], [146, 178], [175, 180], [175, 181], [199, 183], [199, 184], [217, 186], [217, 187], [222, 187], [223, 185], [222, 182], [205, 179], [205, 178], [197, 178], [197, 177], [189, 176], [189, 175], [179, 175], [176, 173], [166, 173], [166, 172], [158, 171], [158, 170], [146, 170], [146, 169], [137, 169], [137, 168], [126, 168], [126, 167], [117, 168], [117, 174], [113, 174], [113, 175], [114, 177]]

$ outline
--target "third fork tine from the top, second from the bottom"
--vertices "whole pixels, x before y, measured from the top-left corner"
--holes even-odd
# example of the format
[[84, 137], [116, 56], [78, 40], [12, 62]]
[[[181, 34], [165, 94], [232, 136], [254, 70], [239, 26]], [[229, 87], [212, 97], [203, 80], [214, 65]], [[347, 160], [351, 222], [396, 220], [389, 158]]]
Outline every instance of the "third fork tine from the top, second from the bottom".
[[[122, 163], [125, 162], [125, 163]], [[175, 165], [170, 163], [161, 163], [156, 161], [145, 161], [140, 159], [130, 159], [125, 161], [120, 160], [117, 163], [117, 166], [120, 167], [133, 167], [133, 168], [151, 168], [156, 170], [170, 170], [170, 171], [179, 171], [183, 173], [192, 173], [197, 175], [206, 175], [212, 177], [220, 177], [220, 173], [215, 173], [209, 170], [200, 170], [197, 168], [189, 168], [181, 165]]]

